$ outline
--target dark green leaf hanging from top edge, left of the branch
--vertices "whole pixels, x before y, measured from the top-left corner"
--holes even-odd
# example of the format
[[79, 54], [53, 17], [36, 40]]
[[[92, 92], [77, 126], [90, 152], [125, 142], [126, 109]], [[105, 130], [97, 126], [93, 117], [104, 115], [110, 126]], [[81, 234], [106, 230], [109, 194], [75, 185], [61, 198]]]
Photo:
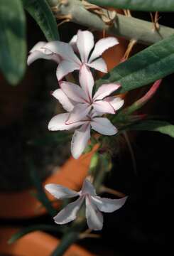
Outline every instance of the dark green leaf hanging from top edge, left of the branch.
[[23, 0], [23, 5], [48, 41], [59, 40], [58, 26], [46, 0]]

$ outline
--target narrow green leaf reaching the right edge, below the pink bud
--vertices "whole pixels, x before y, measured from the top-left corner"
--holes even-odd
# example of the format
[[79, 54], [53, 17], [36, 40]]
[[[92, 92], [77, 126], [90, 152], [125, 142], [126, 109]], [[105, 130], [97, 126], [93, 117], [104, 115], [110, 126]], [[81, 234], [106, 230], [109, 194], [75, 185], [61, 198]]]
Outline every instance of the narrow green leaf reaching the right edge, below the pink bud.
[[161, 132], [174, 138], [174, 125], [165, 121], [146, 120], [129, 127], [131, 130]]

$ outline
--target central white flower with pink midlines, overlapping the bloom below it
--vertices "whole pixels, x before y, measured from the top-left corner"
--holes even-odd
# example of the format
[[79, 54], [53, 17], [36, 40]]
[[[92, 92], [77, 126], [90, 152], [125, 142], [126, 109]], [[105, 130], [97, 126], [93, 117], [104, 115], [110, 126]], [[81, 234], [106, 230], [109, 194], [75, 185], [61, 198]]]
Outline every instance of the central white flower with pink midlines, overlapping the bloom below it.
[[94, 79], [86, 65], [82, 65], [79, 78], [81, 87], [71, 82], [60, 82], [62, 91], [71, 101], [75, 102], [75, 107], [70, 112], [67, 124], [77, 122], [85, 117], [92, 110], [92, 107], [99, 113], [115, 114], [116, 110], [124, 105], [124, 100], [120, 97], [107, 97], [120, 87], [119, 84], [104, 84], [92, 96]]

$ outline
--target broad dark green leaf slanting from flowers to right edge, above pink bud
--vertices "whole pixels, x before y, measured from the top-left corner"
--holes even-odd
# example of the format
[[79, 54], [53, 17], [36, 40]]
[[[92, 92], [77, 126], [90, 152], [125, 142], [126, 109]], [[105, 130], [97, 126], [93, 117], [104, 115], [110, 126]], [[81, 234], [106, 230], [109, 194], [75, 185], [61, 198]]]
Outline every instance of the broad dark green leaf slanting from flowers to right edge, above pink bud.
[[96, 86], [120, 82], [119, 92], [148, 85], [174, 72], [174, 35], [149, 46], [97, 80]]

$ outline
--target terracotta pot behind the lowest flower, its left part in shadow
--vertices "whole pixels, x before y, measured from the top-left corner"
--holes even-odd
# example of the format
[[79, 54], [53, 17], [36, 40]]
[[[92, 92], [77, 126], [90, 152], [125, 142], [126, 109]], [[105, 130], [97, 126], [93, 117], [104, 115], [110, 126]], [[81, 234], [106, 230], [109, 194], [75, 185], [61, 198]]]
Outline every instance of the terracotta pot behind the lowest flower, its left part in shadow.
[[[55, 174], [48, 177], [46, 183], [59, 183], [62, 186], [79, 190], [82, 182], [87, 176], [90, 159], [94, 151], [85, 154], [80, 159], [72, 157]], [[40, 207], [40, 202], [31, 195], [34, 189], [27, 189], [21, 192], [0, 193], [0, 218], [33, 218], [46, 213], [45, 208]], [[53, 200], [53, 196], [48, 193], [48, 198]]]

